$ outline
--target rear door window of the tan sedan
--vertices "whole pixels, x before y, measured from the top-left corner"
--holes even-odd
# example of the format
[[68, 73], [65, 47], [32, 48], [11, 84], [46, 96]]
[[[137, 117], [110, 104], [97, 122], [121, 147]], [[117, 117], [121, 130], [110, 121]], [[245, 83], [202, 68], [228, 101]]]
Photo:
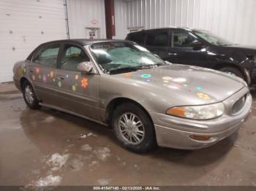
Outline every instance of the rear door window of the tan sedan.
[[56, 68], [59, 47], [59, 44], [43, 47], [35, 55], [34, 63], [39, 63], [44, 66]]

